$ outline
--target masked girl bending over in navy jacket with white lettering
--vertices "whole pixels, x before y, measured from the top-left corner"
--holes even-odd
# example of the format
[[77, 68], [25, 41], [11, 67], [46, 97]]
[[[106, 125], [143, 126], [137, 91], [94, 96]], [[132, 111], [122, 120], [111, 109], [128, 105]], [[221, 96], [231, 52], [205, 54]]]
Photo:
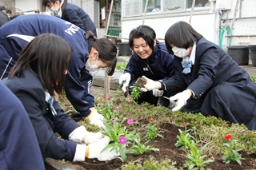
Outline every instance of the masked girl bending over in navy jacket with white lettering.
[[90, 72], [107, 68], [107, 74], [113, 75], [117, 47], [107, 38], [98, 39], [90, 31], [85, 32], [70, 22], [49, 15], [18, 16], [0, 28], [0, 80], [8, 76], [22, 48], [35, 36], [44, 33], [56, 34], [71, 45], [73, 52], [65, 78], [66, 97], [82, 117], [104, 128], [104, 117], [94, 108]]

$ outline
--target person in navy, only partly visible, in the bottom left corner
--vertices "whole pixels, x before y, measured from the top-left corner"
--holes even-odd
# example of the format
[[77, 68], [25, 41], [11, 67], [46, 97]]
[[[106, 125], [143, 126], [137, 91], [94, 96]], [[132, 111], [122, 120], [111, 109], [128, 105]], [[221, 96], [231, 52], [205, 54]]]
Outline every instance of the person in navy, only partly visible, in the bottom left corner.
[[45, 170], [34, 128], [22, 102], [0, 81], [0, 166], [2, 170]]

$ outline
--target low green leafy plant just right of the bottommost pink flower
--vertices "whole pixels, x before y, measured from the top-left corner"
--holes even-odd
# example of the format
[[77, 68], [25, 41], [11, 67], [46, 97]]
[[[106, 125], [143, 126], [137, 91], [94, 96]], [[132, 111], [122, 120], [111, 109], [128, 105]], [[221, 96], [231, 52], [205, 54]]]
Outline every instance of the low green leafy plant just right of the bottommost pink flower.
[[142, 144], [141, 137], [135, 138], [134, 139], [134, 144], [129, 149], [129, 153], [139, 155], [139, 154], [150, 152], [150, 151], [159, 151], [159, 149], [154, 148], [154, 146], [146, 146], [145, 144], [147, 142], [149, 142], [149, 141], [146, 141], [144, 144]]

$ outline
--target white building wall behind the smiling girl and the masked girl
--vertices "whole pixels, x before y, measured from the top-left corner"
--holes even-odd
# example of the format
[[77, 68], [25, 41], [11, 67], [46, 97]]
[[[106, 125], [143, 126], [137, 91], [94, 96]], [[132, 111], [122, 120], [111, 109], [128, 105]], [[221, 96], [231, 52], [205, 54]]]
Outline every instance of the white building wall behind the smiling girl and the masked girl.
[[[178, 1], [178, 0], [177, 0]], [[138, 2], [138, 1], [137, 1]], [[174, 13], [164, 13], [158, 11], [153, 14], [146, 14], [145, 18], [141, 16], [124, 17], [125, 8], [122, 5], [122, 38], [123, 41], [129, 37], [130, 30], [134, 27], [144, 24], [154, 28], [157, 38], [163, 39], [166, 30], [172, 24], [178, 21], [190, 22], [200, 34], [206, 39], [219, 44], [222, 42], [222, 48], [226, 48], [228, 39], [226, 26], [232, 26], [232, 19], [235, 14], [235, 7], [237, 0], [209, 0], [211, 3], [210, 10], [196, 11], [191, 15], [190, 11], [179, 11]], [[241, 7], [240, 7], [241, 6]], [[224, 7], [224, 8], [223, 8]], [[256, 1], [242, 0], [238, 3], [238, 12], [234, 21], [234, 28], [232, 35], [239, 35], [241, 37], [233, 37], [230, 45], [251, 45], [256, 44]], [[143, 9], [142, 9], [143, 11]], [[163, 10], [162, 10], [163, 11]], [[226, 30], [225, 30], [226, 29]], [[219, 31], [224, 30], [222, 37]], [[245, 35], [253, 35], [248, 38]]]

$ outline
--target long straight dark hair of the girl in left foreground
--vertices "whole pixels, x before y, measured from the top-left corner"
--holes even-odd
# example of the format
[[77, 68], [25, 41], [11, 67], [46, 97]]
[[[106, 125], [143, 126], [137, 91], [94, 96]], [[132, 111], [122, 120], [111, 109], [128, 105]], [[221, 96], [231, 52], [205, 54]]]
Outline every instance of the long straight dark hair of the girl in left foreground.
[[71, 52], [70, 45], [58, 35], [38, 35], [22, 49], [8, 77], [19, 77], [22, 70], [30, 69], [51, 96], [54, 95], [54, 90], [61, 94]]

